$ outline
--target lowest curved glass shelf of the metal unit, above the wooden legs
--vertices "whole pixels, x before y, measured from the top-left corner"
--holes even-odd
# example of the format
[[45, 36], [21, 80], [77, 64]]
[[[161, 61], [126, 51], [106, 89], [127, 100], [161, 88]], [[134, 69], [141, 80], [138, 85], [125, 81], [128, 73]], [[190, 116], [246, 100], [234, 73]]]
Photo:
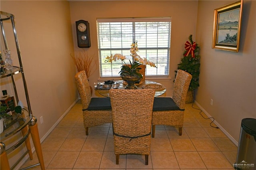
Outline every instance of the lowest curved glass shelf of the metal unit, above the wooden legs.
[[16, 116], [16, 113], [13, 114], [15, 115], [13, 117], [11, 125], [6, 129], [4, 128], [4, 131], [0, 134], [0, 141], [4, 141], [7, 138], [13, 136], [14, 134], [22, 130], [24, 127], [26, 127], [30, 122], [28, 109], [26, 107], [23, 109], [21, 117], [18, 118]]

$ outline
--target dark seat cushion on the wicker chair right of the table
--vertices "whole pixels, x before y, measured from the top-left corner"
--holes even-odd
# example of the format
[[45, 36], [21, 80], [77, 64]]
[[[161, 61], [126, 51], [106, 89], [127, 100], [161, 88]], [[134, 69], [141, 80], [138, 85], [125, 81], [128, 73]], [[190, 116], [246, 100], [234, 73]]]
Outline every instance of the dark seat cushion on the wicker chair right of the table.
[[153, 104], [153, 111], [170, 111], [170, 110], [184, 111], [184, 109], [180, 109], [174, 103], [171, 97], [155, 97], [154, 104]]

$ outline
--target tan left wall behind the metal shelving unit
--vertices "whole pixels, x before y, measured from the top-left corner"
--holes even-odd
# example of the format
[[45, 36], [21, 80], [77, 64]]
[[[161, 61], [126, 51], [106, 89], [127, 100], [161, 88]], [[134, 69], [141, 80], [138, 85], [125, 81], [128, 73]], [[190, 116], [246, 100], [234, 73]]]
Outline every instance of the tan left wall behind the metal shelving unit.
[[[1, 0], [0, 8], [15, 16], [31, 109], [38, 118], [39, 134], [43, 138], [78, 97], [74, 83], [76, 68], [70, 57], [74, 49], [69, 2]], [[5, 31], [14, 65], [18, 65], [13, 33], [10, 27]], [[26, 105], [21, 76], [15, 78], [19, 99]], [[14, 94], [6, 85], [7, 81], [1, 79], [1, 90], [7, 89], [9, 94]]]

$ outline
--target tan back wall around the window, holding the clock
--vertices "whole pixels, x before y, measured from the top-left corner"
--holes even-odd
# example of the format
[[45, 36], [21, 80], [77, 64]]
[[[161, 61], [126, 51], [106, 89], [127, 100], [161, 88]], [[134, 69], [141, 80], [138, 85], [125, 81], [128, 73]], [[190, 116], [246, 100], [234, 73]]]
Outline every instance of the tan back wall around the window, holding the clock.
[[[167, 87], [166, 96], [172, 95], [172, 86], [177, 64], [184, 52], [184, 43], [190, 34], [196, 32], [197, 1], [70, 1], [70, 14], [73, 30], [75, 53], [82, 51], [77, 47], [76, 26], [78, 20], [90, 23], [91, 47], [85, 48], [89, 55], [95, 54], [99, 63], [97, 18], [130, 18], [130, 17], [172, 17], [171, 49], [170, 49], [170, 79], [154, 79]], [[132, 42], [131, 42], [132, 43]], [[93, 86], [98, 82], [100, 70], [97, 69], [90, 77]], [[95, 93], [93, 93], [96, 96]], [[100, 96], [100, 95], [99, 95]]]

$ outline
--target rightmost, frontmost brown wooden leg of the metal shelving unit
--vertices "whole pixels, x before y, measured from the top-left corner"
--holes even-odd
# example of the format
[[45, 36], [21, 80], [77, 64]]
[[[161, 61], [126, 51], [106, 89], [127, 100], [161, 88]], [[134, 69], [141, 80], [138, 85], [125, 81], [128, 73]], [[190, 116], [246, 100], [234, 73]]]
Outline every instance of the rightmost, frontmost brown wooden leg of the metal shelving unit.
[[40, 163], [41, 170], [45, 170], [44, 168], [44, 158], [42, 154], [42, 148], [41, 148], [41, 143], [40, 143], [40, 138], [38, 134], [38, 127], [37, 124], [35, 123], [34, 125], [29, 125], [28, 126], [30, 129], [30, 134], [36, 149], [36, 155]]

